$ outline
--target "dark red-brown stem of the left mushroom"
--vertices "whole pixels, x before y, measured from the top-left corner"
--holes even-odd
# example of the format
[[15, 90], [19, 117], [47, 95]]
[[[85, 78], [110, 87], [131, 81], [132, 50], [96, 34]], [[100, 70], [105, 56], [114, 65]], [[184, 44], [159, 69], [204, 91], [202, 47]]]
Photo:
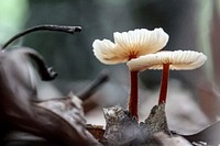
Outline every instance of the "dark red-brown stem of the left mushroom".
[[138, 75], [139, 75], [139, 71], [130, 71], [131, 91], [130, 91], [130, 101], [129, 101], [129, 112], [136, 119], [139, 119], [139, 115], [138, 115], [138, 102], [139, 102]]

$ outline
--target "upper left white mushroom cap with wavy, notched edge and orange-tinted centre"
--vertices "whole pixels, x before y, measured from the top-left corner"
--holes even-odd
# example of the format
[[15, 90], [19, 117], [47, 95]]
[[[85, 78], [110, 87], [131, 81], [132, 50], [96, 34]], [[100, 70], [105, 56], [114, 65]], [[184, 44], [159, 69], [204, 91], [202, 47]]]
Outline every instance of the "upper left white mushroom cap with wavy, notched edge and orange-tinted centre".
[[114, 43], [96, 40], [92, 44], [95, 56], [103, 64], [125, 63], [131, 58], [156, 53], [168, 42], [168, 35], [163, 29], [116, 32], [113, 37]]

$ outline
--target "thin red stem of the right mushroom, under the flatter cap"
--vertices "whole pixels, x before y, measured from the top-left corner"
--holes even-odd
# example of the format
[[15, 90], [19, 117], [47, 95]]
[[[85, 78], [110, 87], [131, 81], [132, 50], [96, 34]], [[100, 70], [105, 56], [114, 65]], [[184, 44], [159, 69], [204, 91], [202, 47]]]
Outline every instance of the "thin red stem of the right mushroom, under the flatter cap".
[[169, 76], [169, 63], [163, 64], [163, 74], [161, 82], [161, 92], [158, 98], [158, 105], [166, 103], [167, 86], [168, 86], [168, 76]]

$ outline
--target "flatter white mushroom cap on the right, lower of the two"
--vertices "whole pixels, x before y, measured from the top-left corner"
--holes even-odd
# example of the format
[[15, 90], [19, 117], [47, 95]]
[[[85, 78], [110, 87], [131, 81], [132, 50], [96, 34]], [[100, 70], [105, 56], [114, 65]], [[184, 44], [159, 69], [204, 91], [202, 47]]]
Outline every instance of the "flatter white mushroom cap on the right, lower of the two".
[[163, 69], [163, 64], [169, 63], [173, 70], [189, 70], [204, 65], [207, 56], [194, 50], [158, 52], [148, 54], [127, 63], [130, 70]]

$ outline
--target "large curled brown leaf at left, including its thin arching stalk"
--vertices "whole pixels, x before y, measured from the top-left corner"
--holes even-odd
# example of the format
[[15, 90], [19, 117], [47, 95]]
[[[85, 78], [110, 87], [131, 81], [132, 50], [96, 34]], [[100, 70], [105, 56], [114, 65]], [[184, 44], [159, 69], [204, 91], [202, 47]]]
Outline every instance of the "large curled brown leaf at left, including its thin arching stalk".
[[70, 94], [65, 100], [34, 102], [36, 87], [30, 58], [34, 60], [42, 80], [53, 80], [57, 75], [37, 52], [28, 47], [3, 52], [18, 37], [38, 30], [74, 33], [80, 27], [41, 25], [15, 35], [0, 46], [0, 97], [4, 101], [0, 103], [0, 126], [3, 128], [0, 138], [13, 127], [65, 146], [98, 145], [86, 131], [81, 104], [76, 97]]

